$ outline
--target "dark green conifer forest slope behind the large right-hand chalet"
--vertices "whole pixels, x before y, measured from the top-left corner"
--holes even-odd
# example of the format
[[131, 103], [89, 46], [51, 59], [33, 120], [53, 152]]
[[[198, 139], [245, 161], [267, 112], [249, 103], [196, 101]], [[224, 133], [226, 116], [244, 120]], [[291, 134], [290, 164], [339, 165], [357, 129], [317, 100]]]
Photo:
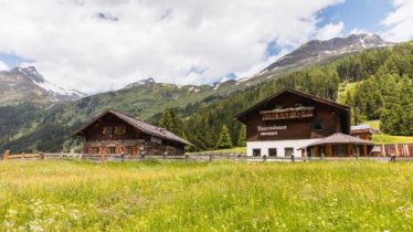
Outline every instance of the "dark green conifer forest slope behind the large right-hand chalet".
[[[352, 88], [340, 89], [348, 83], [353, 83]], [[232, 144], [242, 146], [245, 134], [233, 116], [283, 87], [335, 101], [341, 91], [343, 96], [338, 102], [352, 107], [352, 124], [380, 119], [383, 133], [413, 136], [413, 43], [369, 50], [328, 65], [294, 72], [203, 108], [193, 104], [177, 109], [184, 118], [182, 133], [186, 131], [195, 149], [215, 149], [226, 125]]]

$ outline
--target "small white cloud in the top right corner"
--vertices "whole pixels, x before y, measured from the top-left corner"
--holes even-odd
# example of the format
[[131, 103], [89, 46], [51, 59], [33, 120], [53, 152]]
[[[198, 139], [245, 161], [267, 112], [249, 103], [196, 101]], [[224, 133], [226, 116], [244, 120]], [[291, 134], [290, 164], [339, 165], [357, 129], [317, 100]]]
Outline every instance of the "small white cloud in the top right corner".
[[385, 40], [400, 42], [413, 39], [413, 0], [393, 0], [395, 10], [382, 22], [388, 29], [382, 36]]

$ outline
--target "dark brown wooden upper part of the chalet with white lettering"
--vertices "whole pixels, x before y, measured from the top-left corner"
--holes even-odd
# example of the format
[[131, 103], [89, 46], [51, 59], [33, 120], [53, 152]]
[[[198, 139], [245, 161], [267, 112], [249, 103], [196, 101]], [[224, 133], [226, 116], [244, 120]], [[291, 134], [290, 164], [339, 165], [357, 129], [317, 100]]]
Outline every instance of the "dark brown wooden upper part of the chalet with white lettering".
[[289, 88], [236, 116], [247, 141], [314, 139], [350, 133], [350, 108]]

